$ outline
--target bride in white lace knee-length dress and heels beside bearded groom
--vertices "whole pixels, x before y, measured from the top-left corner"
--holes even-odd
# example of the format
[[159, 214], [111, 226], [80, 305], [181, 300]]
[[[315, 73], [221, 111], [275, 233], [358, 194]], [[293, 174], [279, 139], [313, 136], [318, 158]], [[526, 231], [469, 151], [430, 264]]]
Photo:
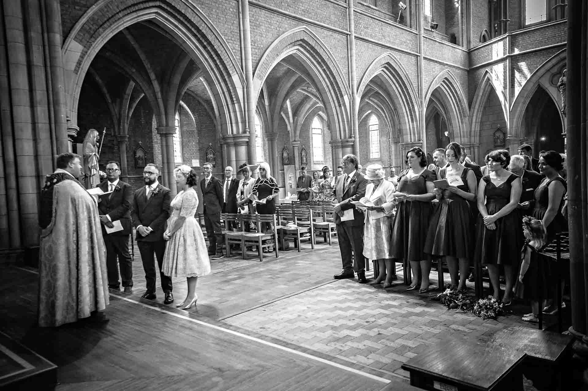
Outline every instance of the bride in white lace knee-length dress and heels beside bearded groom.
[[172, 215], [163, 232], [163, 240], [168, 241], [168, 245], [163, 256], [162, 272], [169, 278], [186, 278], [188, 293], [176, 307], [189, 309], [198, 300], [198, 277], [211, 274], [211, 263], [202, 229], [194, 217], [198, 209], [198, 195], [193, 187], [198, 184], [198, 177], [191, 167], [185, 165], [176, 167], [173, 174], [181, 191], [171, 202]]

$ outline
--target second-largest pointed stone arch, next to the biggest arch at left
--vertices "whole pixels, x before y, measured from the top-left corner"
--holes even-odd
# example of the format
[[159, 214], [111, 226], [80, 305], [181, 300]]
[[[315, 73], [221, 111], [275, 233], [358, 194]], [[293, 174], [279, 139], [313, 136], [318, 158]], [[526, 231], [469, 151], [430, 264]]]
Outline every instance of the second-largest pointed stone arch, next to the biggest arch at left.
[[351, 94], [346, 78], [325, 43], [306, 26], [283, 33], [263, 53], [253, 74], [255, 100], [258, 100], [271, 70], [289, 56], [298, 60], [312, 78], [313, 86], [323, 100], [332, 139], [349, 138], [352, 134], [349, 115]]

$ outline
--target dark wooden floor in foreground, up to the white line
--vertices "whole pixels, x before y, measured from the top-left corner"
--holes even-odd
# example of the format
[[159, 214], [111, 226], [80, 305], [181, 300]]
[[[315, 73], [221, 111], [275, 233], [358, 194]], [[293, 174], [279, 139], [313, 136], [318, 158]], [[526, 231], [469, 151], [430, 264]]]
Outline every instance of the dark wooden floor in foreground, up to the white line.
[[0, 329], [58, 365], [58, 390], [413, 389], [116, 295], [106, 325], [36, 328], [38, 276], [0, 276]]

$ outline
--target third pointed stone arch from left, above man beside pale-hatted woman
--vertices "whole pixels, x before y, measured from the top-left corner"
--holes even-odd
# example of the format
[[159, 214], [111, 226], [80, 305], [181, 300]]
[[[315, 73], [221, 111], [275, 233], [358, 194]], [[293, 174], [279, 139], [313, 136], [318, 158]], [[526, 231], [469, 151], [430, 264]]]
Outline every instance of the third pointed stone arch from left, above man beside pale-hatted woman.
[[410, 81], [406, 69], [392, 52], [384, 53], [368, 66], [358, 84], [358, 97], [362, 98], [369, 82], [380, 76], [385, 81], [389, 92], [392, 94], [393, 105], [398, 112], [397, 117], [403, 119], [399, 122], [400, 140], [402, 142], [416, 141], [420, 137], [419, 125], [419, 100], [415, 86]]

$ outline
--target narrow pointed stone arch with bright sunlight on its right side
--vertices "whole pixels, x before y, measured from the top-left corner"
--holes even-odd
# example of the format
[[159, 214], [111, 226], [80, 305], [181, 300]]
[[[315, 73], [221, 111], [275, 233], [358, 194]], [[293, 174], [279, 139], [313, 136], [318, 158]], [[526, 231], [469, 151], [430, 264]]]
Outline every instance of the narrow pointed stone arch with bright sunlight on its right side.
[[480, 142], [480, 122], [482, 122], [482, 113], [484, 112], [484, 108], [486, 106], [486, 102], [488, 100], [488, 96], [490, 93], [494, 91], [496, 96], [498, 96], [498, 100], [500, 101], [500, 106], [502, 107], [502, 113], [505, 116], [505, 126], [506, 126], [506, 133], [510, 134], [509, 129], [509, 109], [508, 109], [508, 101], [505, 95], [505, 92], [502, 90], [502, 86], [500, 85], [499, 80], [495, 77], [495, 75], [486, 70], [482, 75], [482, 80], [480, 80], [479, 85], [477, 86], [476, 93], [474, 95], [474, 99], [472, 101], [472, 109], [470, 109], [470, 133], [469, 139], [470, 143], [479, 143]]

